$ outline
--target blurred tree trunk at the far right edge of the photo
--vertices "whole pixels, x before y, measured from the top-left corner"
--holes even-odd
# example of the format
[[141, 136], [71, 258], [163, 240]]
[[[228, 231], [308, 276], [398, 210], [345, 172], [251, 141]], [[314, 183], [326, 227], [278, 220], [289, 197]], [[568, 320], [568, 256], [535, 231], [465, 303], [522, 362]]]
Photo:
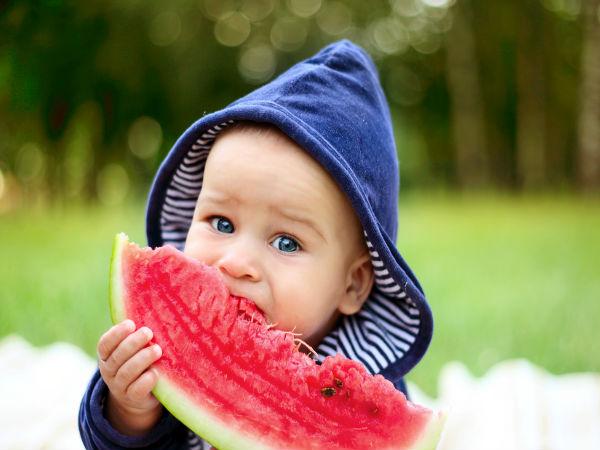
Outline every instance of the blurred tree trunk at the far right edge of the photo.
[[600, 189], [600, 0], [584, 0], [583, 12], [578, 181], [591, 191]]

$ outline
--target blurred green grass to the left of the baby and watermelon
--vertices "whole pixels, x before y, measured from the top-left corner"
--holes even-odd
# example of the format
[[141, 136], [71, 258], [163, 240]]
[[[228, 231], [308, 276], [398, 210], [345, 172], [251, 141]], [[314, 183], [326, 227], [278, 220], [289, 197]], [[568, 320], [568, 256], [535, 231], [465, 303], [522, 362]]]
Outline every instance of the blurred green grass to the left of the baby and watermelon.
[[143, 207], [21, 211], [0, 220], [0, 336], [36, 345], [57, 340], [90, 355], [110, 326], [108, 264], [124, 231], [145, 242]]

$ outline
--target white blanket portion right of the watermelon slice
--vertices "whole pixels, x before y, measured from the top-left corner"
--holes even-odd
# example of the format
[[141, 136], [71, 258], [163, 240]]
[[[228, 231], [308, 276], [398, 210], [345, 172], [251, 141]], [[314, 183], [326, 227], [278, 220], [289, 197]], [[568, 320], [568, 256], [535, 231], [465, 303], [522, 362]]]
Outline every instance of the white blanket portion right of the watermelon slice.
[[447, 414], [438, 450], [600, 450], [600, 374], [556, 376], [512, 360], [478, 379], [453, 362], [438, 391], [431, 400], [409, 384], [413, 401]]

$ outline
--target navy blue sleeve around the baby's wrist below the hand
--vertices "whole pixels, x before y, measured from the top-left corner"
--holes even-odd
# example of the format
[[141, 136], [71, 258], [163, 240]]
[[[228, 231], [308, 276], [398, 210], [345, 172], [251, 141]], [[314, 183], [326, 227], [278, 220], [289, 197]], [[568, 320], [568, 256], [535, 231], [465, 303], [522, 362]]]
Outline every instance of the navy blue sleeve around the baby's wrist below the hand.
[[188, 429], [166, 409], [156, 426], [143, 436], [126, 436], [108, 422], [103, 413], [108, 386], [100, 371], [92, 377], [79, 408], [79, 433], [88, 450], [153, 449], [176, 450], [188, 447]]

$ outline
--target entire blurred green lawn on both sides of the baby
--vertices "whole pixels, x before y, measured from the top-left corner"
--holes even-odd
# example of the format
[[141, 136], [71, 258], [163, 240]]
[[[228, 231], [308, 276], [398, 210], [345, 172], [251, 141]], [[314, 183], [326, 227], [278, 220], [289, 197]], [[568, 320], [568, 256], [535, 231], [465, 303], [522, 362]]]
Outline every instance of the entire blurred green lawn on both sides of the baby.
[[[600, 371], [600, 202], [563, 196], [418, 194], [401, 201], [399, 248], [435, 316], [409, 379], [476, 374], [524, 357], [554, 373]], [[110, 322], [108, 261], [119, 231], [144, 242], [143, 206], [0, 217], [0, 336], [64, 340], [90, 355]]]

